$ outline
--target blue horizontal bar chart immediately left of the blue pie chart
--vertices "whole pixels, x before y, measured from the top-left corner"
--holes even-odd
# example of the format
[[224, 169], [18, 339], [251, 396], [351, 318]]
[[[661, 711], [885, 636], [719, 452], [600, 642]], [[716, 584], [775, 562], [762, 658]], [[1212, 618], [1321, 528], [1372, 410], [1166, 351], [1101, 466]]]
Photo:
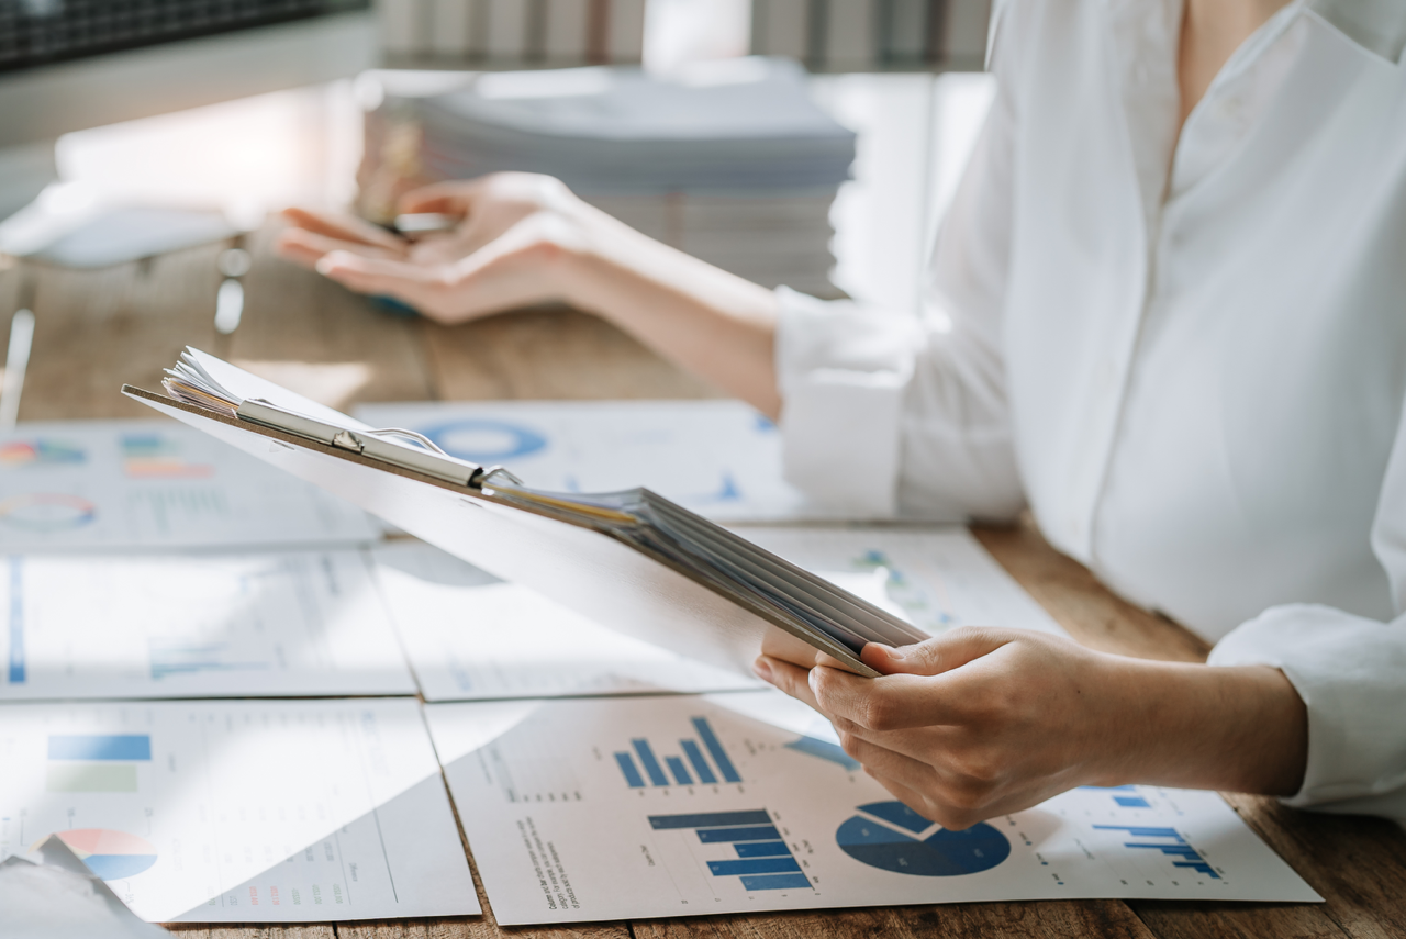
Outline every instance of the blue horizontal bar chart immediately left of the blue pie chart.
[[702, 845], [727, 845], [735, 857], [707, 862], [714, 877], [737, 877], [748, 893], [810, 890], [810, 879], [765, 808], [737, 812], [650, 815], [654, 831], [692, 829]]

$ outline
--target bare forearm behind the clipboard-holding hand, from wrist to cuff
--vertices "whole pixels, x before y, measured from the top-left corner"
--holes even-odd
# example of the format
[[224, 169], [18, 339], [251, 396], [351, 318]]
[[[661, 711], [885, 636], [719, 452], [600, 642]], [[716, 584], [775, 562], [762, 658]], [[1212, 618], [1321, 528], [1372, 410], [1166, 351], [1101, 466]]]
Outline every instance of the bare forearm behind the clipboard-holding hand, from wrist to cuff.
[[1289, 796], [1308, 759], [1308, 710], [1282, 672], [1121, 659], [1118, 746], [1101, 783]]

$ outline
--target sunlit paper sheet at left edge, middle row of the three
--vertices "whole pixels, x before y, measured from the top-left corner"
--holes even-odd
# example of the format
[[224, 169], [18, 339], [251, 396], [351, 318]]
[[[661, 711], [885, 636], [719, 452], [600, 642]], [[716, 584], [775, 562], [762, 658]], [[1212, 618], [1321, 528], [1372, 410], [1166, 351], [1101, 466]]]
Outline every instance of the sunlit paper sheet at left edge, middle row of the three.
[[0, 559], [0, 699], [413, 694], [363, 551]]

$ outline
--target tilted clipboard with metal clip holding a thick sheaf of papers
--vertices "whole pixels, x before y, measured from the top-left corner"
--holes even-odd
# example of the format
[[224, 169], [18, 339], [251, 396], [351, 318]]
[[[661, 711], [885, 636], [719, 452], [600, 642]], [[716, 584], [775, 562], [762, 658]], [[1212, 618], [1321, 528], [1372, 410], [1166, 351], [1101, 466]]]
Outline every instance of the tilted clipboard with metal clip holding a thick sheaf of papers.
[[763, 649], [858, 675], [866, 642], [924, 634], [648, 489], [529, 489], [498, 467], [377, 430], [188, 350], [167, 395], [129, 396], [314, 482], [505, 581], [695, 661], [748, 673]]

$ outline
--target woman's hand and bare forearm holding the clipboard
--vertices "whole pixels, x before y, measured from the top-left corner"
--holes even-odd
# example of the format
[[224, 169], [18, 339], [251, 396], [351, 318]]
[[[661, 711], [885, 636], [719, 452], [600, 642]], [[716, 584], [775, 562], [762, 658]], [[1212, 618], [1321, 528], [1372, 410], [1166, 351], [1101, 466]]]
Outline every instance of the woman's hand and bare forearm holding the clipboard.
[[1076, 786], [1292, 793], [1306, 713], [1278, 669], [1146, 662], [1021, 630], [866, 645], [880, 678], [761, 658], [884, 789], [948, 828]]

